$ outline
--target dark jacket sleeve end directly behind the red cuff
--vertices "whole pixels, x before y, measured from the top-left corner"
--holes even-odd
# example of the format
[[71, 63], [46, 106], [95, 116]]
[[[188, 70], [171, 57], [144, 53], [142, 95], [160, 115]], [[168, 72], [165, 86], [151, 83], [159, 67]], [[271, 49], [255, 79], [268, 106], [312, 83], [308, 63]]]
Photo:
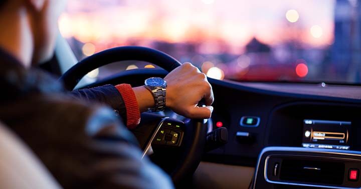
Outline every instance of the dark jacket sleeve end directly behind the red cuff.
[[126, 120], [126, 107], [122, 95], [118, 89], [111, 84], [94, 88], [73, 90], [69, 95], [86, 101], [100, 102], [117, 110], [119, 115]]

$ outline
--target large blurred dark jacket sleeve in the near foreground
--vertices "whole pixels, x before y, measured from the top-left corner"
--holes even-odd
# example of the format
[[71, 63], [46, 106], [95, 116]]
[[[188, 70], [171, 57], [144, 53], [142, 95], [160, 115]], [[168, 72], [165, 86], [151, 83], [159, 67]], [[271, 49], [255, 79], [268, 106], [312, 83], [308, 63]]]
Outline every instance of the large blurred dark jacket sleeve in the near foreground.
[[0, 108], [0, 118], [64, 188], [173, 188], [109, 108], [32, 96]]

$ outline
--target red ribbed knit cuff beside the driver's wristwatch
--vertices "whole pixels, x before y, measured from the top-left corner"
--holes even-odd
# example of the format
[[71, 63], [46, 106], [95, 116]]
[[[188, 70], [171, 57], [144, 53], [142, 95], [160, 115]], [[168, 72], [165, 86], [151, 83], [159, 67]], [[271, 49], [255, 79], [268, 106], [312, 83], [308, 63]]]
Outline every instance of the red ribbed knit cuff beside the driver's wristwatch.
[[135, 93], [130, 84], [115, 86], [123, 97], [126, 108], [126, 124], [129, 129], [135, 128], [140, 122], [140, 111]]

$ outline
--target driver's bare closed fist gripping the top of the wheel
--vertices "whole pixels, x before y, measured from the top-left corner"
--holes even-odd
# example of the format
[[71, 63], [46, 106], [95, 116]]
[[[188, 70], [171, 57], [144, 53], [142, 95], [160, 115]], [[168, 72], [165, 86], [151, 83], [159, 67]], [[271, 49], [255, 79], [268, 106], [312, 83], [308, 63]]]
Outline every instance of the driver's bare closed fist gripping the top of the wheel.
[[[167, 81], [166, 106], [189, 118], [209, 118], [213, 111], [213, 90], [206, 74], [189, 62], [172, 70]], [[197, 106], [204, 99], [205, 107]]]

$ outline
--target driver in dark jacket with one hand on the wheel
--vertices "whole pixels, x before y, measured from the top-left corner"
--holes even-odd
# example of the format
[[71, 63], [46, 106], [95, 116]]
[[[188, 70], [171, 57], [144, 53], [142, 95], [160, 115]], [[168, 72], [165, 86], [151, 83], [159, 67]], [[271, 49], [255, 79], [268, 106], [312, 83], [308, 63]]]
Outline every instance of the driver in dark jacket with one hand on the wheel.
[[[124, 123], [134, 127], [139, 112], [164, 105], [154, 102], [150, 90], [120, 84], [66, 93], [56, 79], [32, 68], [52, 56], [65, 3], [0, 0], [0, 120], [65, 188], [173, 187], [162, 170], [140, 158], [133, 135], [113, 111], [99, 105], [119, 111]], [[198, 68], [185, 63], [164, 80], [167, 107], [190, 118], [211, 116], [212, 87]], [[207, 106], [197, 107], [202, 98]]]

